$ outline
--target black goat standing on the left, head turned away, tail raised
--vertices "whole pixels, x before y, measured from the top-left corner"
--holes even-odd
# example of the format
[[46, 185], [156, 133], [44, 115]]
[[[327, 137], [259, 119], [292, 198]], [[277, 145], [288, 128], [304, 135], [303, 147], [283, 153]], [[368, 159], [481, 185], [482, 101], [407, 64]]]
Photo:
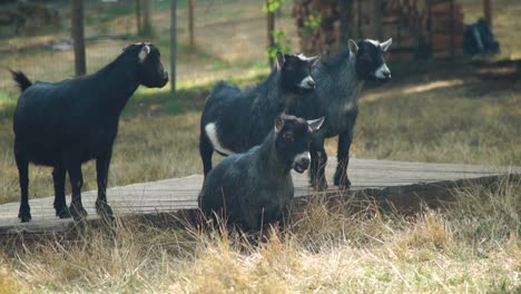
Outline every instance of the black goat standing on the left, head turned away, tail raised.
[[[53, 167], [56, 215], [78, 219], [87, 215], [81, 204], [81, 164], [96, 159], [96, 209], [102, 216], [112, 215], [106, 190], [119, 115], [139, 85], [163, 88], [168, 82], [159, 57], [154, 45], [130, 45], [98, 72], [59, 82], [31, 84], [23, 72], [11, 71], [22, 91], [13, 118], [21, 222], [31, 219], [29, 163]], [[69, 209], [65, 195], [67, 171], [72, 187]]]

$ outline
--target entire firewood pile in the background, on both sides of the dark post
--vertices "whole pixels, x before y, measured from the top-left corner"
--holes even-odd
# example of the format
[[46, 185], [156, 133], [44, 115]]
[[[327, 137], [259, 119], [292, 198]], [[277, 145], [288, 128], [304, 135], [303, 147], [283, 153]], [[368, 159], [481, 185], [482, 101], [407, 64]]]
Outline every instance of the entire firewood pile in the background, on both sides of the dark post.
[[[338, 46], [341, 1], [295, 0], [302, 50], [328, 55]], [[390, 59], [450, 58], [463, 55], [463, 13], [456, 0], [352, 0], [351, 28], [356, 39], [393, 38]], [[312, 14], [321, 27], [306, 28]]]

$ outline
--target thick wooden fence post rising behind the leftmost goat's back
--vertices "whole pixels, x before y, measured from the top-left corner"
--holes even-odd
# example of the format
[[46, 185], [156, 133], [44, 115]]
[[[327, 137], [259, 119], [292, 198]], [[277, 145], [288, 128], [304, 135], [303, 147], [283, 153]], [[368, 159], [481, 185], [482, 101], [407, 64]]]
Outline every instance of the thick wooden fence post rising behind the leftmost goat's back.
[[76, 76], [87, 72], [85, 61], [85, 35], [83, 35], [83, 0], [72, 0], [72, 41], [75, 46], [75, 71]]

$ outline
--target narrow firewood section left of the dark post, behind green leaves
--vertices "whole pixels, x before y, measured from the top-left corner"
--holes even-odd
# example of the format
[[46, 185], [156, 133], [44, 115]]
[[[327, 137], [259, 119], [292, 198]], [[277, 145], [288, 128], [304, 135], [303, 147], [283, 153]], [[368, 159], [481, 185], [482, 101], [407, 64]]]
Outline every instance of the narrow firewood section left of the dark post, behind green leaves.
[[293, 16], [306, 55], [328, 56], [336, 51], [340, 36], [340, 0], [294, 0]]

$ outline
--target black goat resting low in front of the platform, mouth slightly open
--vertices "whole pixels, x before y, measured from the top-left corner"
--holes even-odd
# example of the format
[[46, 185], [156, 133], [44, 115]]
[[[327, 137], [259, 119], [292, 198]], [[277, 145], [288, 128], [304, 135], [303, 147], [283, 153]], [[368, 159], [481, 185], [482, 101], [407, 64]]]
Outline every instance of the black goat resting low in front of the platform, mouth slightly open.
[[311, 135], [323, 121], [278, 117], [259, 146], [228, 156], [208, 173], [198, 198], [203, 213], [247, 232], [281, 220], [295, 192], [289, 171], [307, 169]]

